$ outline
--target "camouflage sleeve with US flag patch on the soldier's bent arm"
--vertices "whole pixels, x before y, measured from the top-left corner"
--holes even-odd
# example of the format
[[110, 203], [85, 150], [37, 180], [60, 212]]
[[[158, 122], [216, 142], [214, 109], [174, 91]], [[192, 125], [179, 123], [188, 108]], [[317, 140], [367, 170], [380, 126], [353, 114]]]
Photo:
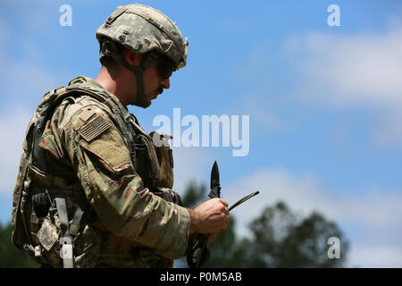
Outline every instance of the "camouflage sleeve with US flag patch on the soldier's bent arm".
[[[70, 114], [70, 115], [69, 115]], [[189, 214], [181, 206], [155, 196], [134, 172], [130, 151], [109, 115], [96, 105], [65, 110], [59, 126], [91, 206], [116, 235], [155, 248], [163, 257], [184, 256]]]

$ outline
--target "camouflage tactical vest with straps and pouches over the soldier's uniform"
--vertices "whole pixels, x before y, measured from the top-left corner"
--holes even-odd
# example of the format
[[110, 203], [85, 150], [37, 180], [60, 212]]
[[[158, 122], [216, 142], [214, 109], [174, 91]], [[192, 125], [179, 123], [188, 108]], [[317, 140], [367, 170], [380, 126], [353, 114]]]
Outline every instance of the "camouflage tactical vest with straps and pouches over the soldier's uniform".
[[[150, 135], [142, 130], [134, 115], [130, 114], [120, 103], [105, 91], [95, 91], [90, 88], [82, 88], [80, 84], [72, 84], [67, 87], [55, 88], [46, 93], [29, 122], [23, 144], [23, 152], [20, 161], [20, 169], [13, 190], [12, 240], [15, 246], [28, 251], [29, 256], [40, 264], [57, 265], [53, 261], [63, 258], [63, 267], [73, 267], [74, 262], [80, 259], [76, 256], [76, 248], [80, 248], [80, 255], [85, 254], [88, 245], [96, 245], [99, 241], [85, 238], [92, 231], [88, 222], [96, 215], [89, 206], [84, 192], [71, 191], [69, 189], [43, 188], [42, 191], [32, 193], [32, 185], [38, 182], [32, 181], [30, 174], [43, 176], [49, 170], [46, 166], [45, 150], [39, 147], [46, 122], [50, 121], [54, 109], [67, 97], [81, 97], [87, 95], [95, 98], [100, 103], [107, 105], [112, 112], [110, 114], [117, 120], [116, 127], [123, 134], [135, 171], [144, 181], [144, 186], [169, 202], [181, 205], [179, 195], [172, 190], [173, 185], [173, 160], [172, 149], [167, 144], [167, 139], [153, 132]], [[157, 144], [155, 139], [159, 140]], [[154, 144], [155, 143], [155, 144]], [[160, 146], [160, 147], [155, 147]], [[71, 213], [66, 207], [76, 206]], [[57, 225], [57, 228], [55, 225]], [[35, 227], [32, 227], [35, 225]], [[36, 229], [35, 229], [36, 228]], [[36, 232], [38, 240], [33, 241], [30, 232]], [[87, 233], [87, 234], [86, 234]], [[74, 243], [81, 234], [83, 245]], [[43, 257], [41, 249], [49, 250], [59, 242], [52, 256]], [[88, 245], [87, 245], [88, 244]], [[90, 259], [85, 257], [85, 259]], [[82, 260], [82, 259], [81, 259]], [[88, 264], [89, 266], [91, 264]], [[168, 263], [169, 265], [169, 263]]]

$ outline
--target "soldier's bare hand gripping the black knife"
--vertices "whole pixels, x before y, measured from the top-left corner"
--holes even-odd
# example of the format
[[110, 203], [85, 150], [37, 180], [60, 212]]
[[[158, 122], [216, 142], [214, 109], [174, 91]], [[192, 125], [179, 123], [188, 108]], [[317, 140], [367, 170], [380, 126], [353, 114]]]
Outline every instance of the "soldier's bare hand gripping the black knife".
[[212, 198], [194, 209], [190, 214], [190, 234], [211, 233], [211, 239], [227, 228], [229, 222], [228, 203], [222, 198]]

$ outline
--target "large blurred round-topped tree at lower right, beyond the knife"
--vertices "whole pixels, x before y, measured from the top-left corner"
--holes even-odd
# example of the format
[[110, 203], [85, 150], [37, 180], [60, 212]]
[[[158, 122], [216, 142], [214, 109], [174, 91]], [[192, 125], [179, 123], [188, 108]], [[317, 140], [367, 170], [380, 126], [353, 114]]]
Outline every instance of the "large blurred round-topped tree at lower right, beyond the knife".
[[[249, 225], [252, 239], [240, 244], [247, 256], [241, 266], [251, 267], [342, 267], [348, 254], [348, 240], [336, 223], [314, 212], [297, 219], [288, 206], [278, 202], [266, 207]], [[327, 241], [340, 241], [340, 257], [330, 259]], [[246, 265], [245, 265], [246, 263]]]

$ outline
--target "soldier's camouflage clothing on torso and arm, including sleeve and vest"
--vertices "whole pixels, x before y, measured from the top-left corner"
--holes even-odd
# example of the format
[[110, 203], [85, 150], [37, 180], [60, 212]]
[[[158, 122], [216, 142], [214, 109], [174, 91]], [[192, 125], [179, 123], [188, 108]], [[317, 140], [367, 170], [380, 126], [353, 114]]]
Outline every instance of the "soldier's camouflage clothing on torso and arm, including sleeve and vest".
[[[60, 100], [42, 124], [41, 106], [64, 89], [47, 93], [29, 124], [13, 194], [14, 244], [43, 265], [62, 267], [67, 233], [75, 267], [172, 267], [188, 247], [189, 214], [171, 189], [169, 168], [163, 172], [172, 164], [169, 147], [155, 149], [95, 80], [79, 77], [66, 88], [82, 92]], [[127, 122], [133, 132], [122, 128]]]

